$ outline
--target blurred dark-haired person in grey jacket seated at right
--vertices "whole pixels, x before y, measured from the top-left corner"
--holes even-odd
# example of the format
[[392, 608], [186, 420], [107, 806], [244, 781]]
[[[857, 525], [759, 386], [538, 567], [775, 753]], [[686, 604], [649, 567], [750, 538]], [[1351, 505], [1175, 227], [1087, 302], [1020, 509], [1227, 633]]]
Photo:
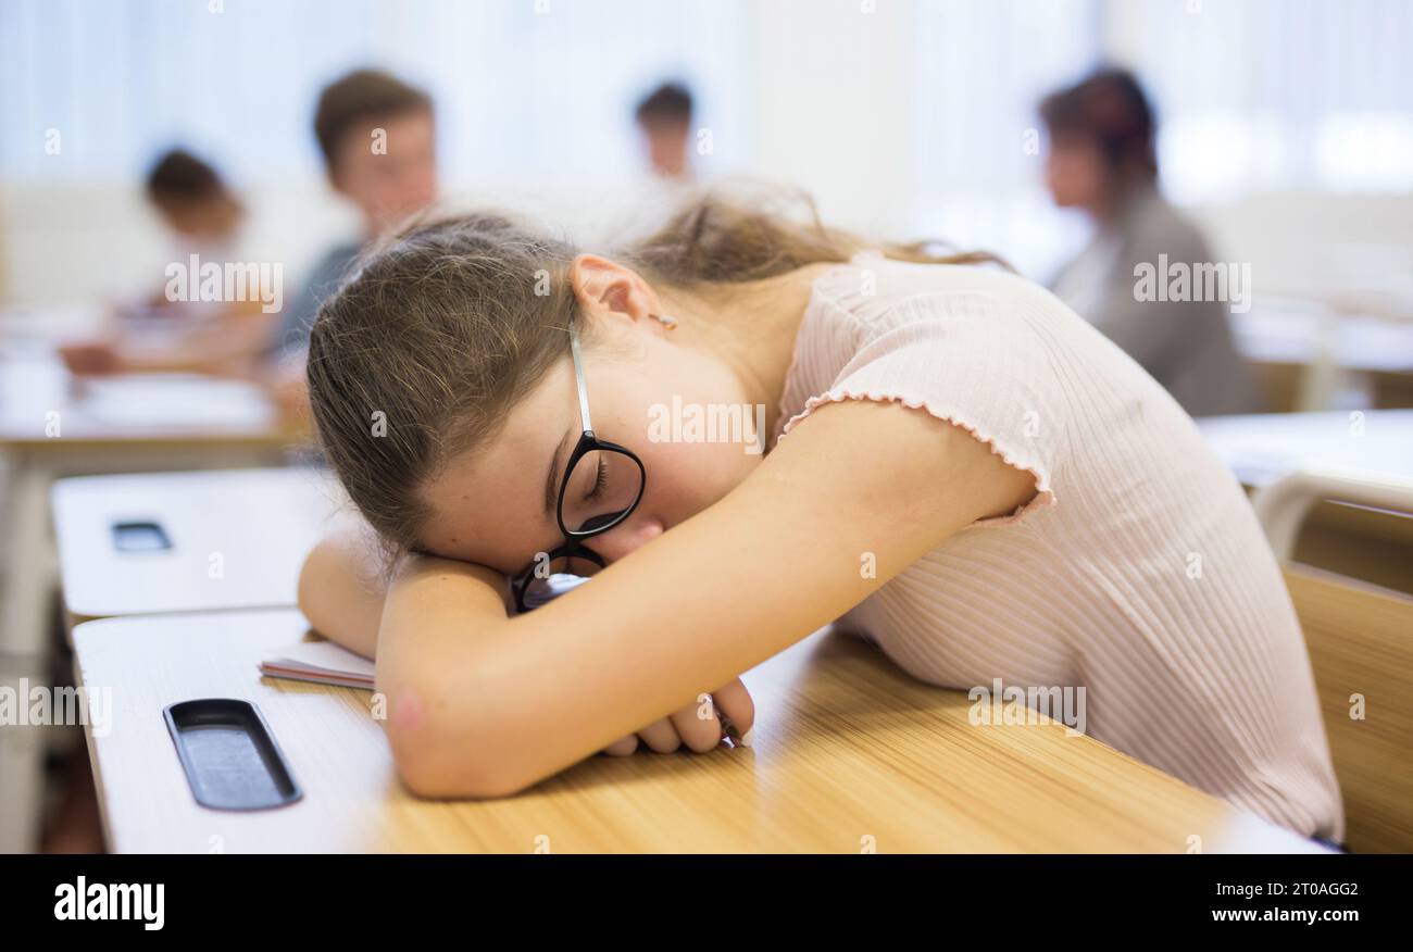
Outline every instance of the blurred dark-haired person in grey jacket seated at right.
[[[1145, 288], [1170, 267], [1218, 264], [1201, 232], [1157, 189], [1154, 117], [1137, 81], [1104, 69], [1044, 99], [1050, 136], [1046, 179], [1061, 208], [1095, 223], [1087, 249], [1051, 290], [1161, 383], [1193, 417], [1260, 410], [1255, 377], [1232, 339], [1226, 295], [1201, 288]], [[1183, 299], [1187, 298], [1187, 299]], [[1249, 299], [1249, 298], [1248, 298]]]

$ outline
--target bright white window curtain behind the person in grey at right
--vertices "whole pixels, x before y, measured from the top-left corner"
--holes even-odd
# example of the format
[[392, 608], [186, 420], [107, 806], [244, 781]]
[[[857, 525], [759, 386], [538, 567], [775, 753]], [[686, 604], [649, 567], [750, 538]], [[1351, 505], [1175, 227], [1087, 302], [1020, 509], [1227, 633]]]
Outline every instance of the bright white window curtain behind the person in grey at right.
[[914, 227], [1046, 278], [1088, 226], [1023, 147], [1050, 89], [1135, 71], [1170, 198], [1413, 189], [1407, 0], [918, 0]]

